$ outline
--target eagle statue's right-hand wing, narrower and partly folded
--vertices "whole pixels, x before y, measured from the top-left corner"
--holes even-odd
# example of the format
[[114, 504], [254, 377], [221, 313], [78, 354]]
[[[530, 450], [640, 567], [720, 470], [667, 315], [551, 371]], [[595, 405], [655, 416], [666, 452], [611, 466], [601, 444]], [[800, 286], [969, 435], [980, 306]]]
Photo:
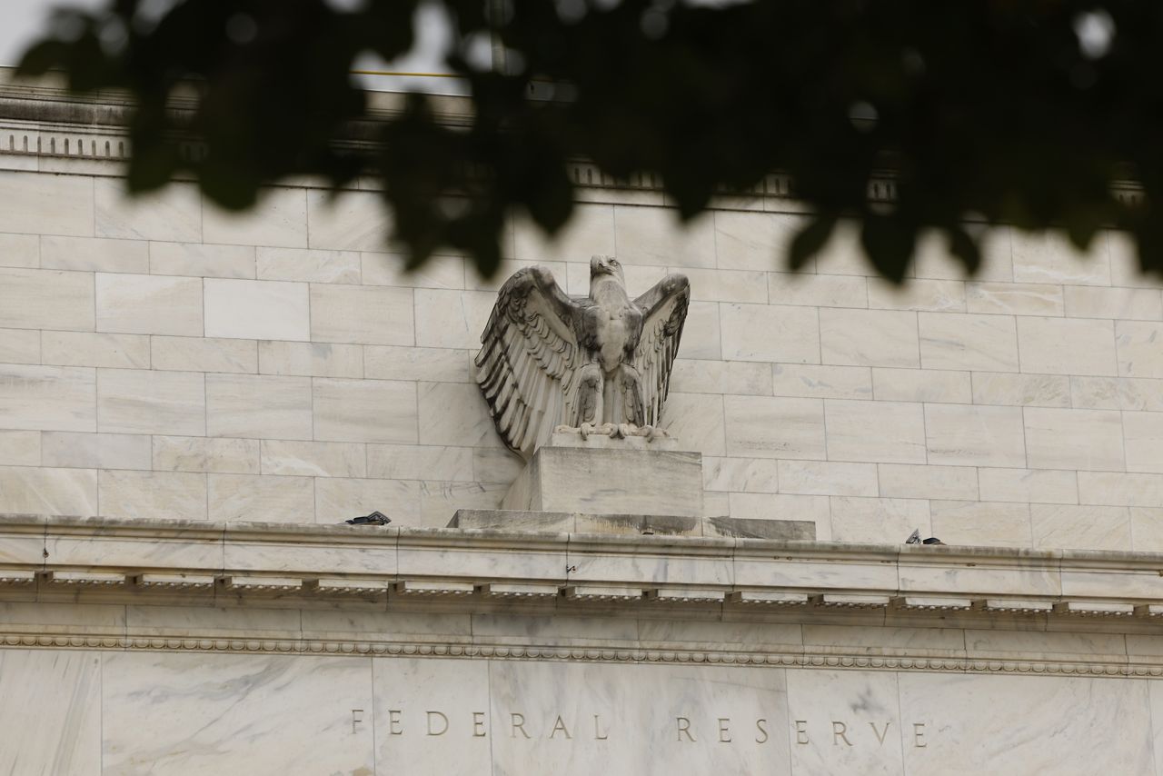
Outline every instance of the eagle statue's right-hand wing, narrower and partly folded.
[[678, 354], [691, 284], [685, 275], [672, 273], [634, 300], [642, 311], [642, 336], [634, 350], [634, 366], [642, 379], [645, 425], [655, 426], [670, 389], [670, 369]]

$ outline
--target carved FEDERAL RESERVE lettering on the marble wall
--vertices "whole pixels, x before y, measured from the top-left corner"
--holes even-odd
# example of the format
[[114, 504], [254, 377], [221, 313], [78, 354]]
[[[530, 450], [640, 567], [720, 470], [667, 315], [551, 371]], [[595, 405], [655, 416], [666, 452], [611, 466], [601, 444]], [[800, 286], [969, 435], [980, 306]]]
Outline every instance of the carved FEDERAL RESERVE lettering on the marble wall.
[[[772, 716], [772, 719], [775, 716]], [[718, 717], [692, 712], [673, 716], [661, 725], [670, 731], [670, 740], [677, 743], [768, 743], [773, 735], [785, 732], [787, 740], [798, 746], [833, 747], [883, 747], [905, 746], [923, 749], [929, 745], [928, 722], [900, 724], [893, 719], [792, 719], [786, 731], [765, 717], [739, 718]], [[352, 710], [352, 732], [364, 721], [363, 710]], [[499, 719], [490, 719], [485, 711], [423, 711], [390, 709], [387, 711], [387, 734], [424, 738], [488, 738], [506, 735], [516, 740], [609, 741], [620, 736], [640, 733], [632, 726], [620, 724], [616, 714], [606, 713], [559, 713], [542, 717], [522, 711], [508, 711]], [[633, 726], [636, 728], [637, 726]], [[898, 729], [899, 728], [899, 729]], [[659, 731], [655, 731], [656, 733]]]

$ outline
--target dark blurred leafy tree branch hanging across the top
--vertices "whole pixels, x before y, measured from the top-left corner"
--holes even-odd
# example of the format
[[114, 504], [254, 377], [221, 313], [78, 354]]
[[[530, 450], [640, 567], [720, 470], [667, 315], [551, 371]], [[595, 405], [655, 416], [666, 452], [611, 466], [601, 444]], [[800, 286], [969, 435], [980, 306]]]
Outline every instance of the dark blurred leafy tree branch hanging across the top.
[[[413, 44], [419, 0], [110, 0], [59, 10], [21, 64], [63, 70], [79, 92], [136, 100], [129, 187], [177, 173], [228, 208], [294, 175], [343, 186], [383, 181], [395, 239], [413, 264], [434, 251], [500, 261], [508, 214], [547, 232], [573, 206], [571, 159], [626, 178], [659, 177], [688, 219], [726, 188], [791, 175], [815, 218], [792, 266], [841, 216], [861, 222], [877, 270], [899, 279], [918, 235], [936, 229], [969, 271], [966, 220], [1057, 229], [1085, 247], [1105, 226], [1130, 232], [1144, 269], [1163, 269], [1163, 5], [1146, 0], [433, 0], [452, 24], [451, 69], [471, 88], [468, 128], [441, 124], [412, 95], [373, 119], [351, 77], [358, 56]], [[494, 37], [493, 37], [494, 36]], [[472, 64], [484, 37], [502, 71]], [[555, 93], [533, 99], [534, 83]], [[179, 87], [193, 112], [167, 111]], [[381, 143], [340, 142], [374, 121]], [[178, 154], [199, 137], [207, 154]], [[363, 148], [363, 150], [361, 150]], [[370, 150], [374, 149], [374, 150]], [[871, 201], [875, 177], [897, 197]], [[1142, 202], [1115, 197], [1134, 179]], [[772, 265], [779, 257], [772, 257]]]

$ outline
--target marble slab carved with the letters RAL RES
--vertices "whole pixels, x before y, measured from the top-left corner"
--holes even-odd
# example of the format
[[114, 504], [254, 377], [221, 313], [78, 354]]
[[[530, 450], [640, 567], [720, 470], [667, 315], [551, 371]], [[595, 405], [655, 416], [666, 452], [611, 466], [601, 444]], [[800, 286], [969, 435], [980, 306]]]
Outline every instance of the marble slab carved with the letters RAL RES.
[[488, 712], [494, 776], [791, 773], [780, 670], [494, 661], [488, 686], [459, 717]]

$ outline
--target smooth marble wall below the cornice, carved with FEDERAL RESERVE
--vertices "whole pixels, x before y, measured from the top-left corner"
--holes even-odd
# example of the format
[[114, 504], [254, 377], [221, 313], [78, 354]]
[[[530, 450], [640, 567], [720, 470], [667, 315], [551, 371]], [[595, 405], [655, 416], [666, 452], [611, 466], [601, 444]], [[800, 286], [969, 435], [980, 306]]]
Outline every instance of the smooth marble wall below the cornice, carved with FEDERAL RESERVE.
[[0, 771], [1155, 774], [1158, 682], [0, 652]]

